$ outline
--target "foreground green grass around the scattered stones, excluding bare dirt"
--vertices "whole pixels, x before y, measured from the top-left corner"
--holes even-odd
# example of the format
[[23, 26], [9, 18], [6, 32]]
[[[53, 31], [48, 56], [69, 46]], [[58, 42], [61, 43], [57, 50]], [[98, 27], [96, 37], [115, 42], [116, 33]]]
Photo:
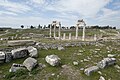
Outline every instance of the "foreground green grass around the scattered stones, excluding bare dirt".
[[[42, 63], [45, 64], [46, 67], [43, 69], [39, 69], [39, 67], [36, 67], [35, 69], [33, 69], [32, 72], [30, 72], [30, 74], [32, 76], [29, 76], [29, 72], [25, 71], [18, 71], [17, 73], [9, 73], [9, 68], [11, 67], [12, 63], [22, 63], [25, 58], [23, 59], [16, 59], [13, 60], [10, 63], [4, 63], [0, 65], [0, 71], [2, 71], [2, 74], [0, 75], [6, 75], [7, 77], [5, 78], [1, 78], [0, 80], [4, 80], [4, 79], [11, 79], [14, 78], [14, 80], [34, 80], [34, 79], [38, 79], [38, 80], [42, 80], [42, 79], [48, 79], [48, 80], [68, 80], [69, 79], [69, 75], [68, 74], [60, 74], [62, 68], [60, 66], [57, 67], [52, 67], [49, 64], [46, 63], [45, 61], [45, 57], [47, 55], [51, 55], [51, 54], [56, 54], [61, 58], [61, 65], [68, 65], [70, 66], [73, 71], [79, 71], [79, 76], [77, 76], [77, 79], [79, 78], [79, 80], [98, 80], [100, 75], [95, 72], [93, 73], [91, 76], [86, 76], [83, 71], [80, 71], [80, 68], [86, 68], [87, 67], [91, 67], [94, 66], [94, 63], [99, 62], [100, 60], [102, 60], [103, 58], [105, 58], [107, 56], [107, 54], [119, 54], [120, 51], [116, 50], [120, 48], [120, 45], [117, 45], [116, 43], [113, 42], [105, 42], [103, 47], [99, 47], [99, 46], [82, 46], [82, 47], [66, 47], [64, 51], [58, 51], [58, 50], [39, 50], [39, 57], [37, 58], [38, 63]], [[111, 49], [112, 52], [108, 53], [106, 50], [107, 46], [112, 46]], [[100, 49], [100, 51], [98, 51], [97, 53], [94, 53], [95, 49]], [[82, 55], [77, 55], [79, 53], [79, 50], [82, 50], [83, 53], [81, 53]], [[93, 51], [91, 51], [93, 50]], [[76, 53], [76, 54], [75, 54]], [[99, 57], [95, 57], [95, 55], [98, 55]], [[84, 62], [81, 63], [80, 61], [83, 59], [87, 59], [87, 56], [93, 56], [91, 57], [91, 60], [88, 62]], [[117, 64], [120, 65], [120, 56], [116, 56], [117, 59]], [[73, 65], [73, 61], [78, 61], [79, 65], [78, 66], [74, 66]], [[120, 80], [120, 74], [117, 72], [117, 69], [114, 68], [114, 66], [110, 66], [107, 67], [103, 70], [100, 70], [102, 72], [102, 76], [105, 77], [106, 80], [110, 79], [111, 80]], [[22, 73], [22, 74], [21, 74]], [[54, 76], [52, 76], [51, 74], [55, 73]], [[59, 77], [57, 77], [59, 75]]]

